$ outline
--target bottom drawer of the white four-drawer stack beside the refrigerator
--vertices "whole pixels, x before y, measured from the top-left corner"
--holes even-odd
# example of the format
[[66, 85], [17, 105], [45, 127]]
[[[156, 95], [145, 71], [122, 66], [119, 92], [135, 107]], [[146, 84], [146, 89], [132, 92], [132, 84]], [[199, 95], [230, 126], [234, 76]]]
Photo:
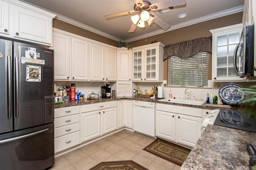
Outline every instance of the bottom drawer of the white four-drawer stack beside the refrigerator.
[[80, 143], [80, 131], [54, 139], [54, 153], [74, 147]]

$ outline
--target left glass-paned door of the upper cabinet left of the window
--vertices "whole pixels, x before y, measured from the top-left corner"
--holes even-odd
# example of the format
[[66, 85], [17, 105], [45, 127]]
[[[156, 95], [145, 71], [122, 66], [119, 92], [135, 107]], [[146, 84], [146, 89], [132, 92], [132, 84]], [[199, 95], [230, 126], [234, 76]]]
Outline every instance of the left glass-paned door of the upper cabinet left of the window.
[[142, 51], [133, 51], [133, 80], [142, 81]]

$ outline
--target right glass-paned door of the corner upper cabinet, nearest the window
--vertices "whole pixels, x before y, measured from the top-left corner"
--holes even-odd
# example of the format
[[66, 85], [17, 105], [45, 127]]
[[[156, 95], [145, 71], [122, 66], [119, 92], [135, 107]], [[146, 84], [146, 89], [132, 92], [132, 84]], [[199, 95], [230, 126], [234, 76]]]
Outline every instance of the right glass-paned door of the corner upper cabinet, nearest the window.
[[146, 76], [145, 80], [156, 79], [156, 48], [146, 49]]

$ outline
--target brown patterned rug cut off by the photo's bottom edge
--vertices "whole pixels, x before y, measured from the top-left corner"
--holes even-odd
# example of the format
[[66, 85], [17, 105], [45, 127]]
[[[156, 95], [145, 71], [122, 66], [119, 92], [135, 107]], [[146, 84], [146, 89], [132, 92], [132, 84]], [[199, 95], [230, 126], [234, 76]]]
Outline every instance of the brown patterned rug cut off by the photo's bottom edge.
[[100, 162], [89, 170], [148, 170], [132, 160]]

